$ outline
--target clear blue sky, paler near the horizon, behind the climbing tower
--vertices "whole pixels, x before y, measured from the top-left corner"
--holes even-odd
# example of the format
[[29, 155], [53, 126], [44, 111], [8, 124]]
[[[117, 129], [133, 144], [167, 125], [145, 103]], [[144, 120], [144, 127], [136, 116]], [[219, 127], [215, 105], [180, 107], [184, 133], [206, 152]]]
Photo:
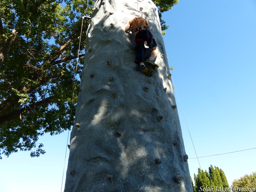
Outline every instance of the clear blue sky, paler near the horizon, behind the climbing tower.
[[[201, 168], [218, 166], [231, 185], [256, 171], [256, 149], [228, 153], [256, 148], [256, 1], [180, 0], [163, 19], [188, 157], [196, 157], [189, 129], [197, 156], [209, 156], [198, 158]], [[42, 137], [46, 154], [39, 158], [29, 152], [3, 157], [0, 192], [60, 191], [67, 139], [68, 132]], [[210, 156], [222, 153], [228, 154]], [[188, 165], [193, 178], [197, 159]]]

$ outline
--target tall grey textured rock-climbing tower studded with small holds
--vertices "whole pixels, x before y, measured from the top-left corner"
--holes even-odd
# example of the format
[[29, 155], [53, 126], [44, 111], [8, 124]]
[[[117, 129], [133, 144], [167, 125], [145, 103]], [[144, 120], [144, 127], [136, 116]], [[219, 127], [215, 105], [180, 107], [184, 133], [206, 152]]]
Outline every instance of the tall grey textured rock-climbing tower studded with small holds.
[[[124, 32], [140, 7], [159, 48], [151, 77], [134, 62], [134, 34]], [[192, 192], [153, 2], [98, 0], [84, 59], [65, 192]]]

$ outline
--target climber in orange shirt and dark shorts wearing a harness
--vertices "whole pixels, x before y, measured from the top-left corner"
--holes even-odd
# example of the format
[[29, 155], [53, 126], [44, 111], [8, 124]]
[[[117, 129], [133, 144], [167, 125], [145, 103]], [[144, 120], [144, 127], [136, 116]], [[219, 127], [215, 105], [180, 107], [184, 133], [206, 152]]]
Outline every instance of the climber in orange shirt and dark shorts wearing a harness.
[[154, 63], [154, 59], [158, 54], [156, 40], [153, 38], [153, 35], [149, 32], [148, 28], [150, 27], [148, 21], [142, 17], [135, 17], [129, 21], [126, 25], [124, 31], [128, 33], [129, 30], [132, 30], [135, 33], [135, 45], [138, 54], [138, 60], [140, 63], [140, 69], [144, 72], [146, 76], [152, 76], [152, 72], [148, 70], [144, 65], [144, 53], [146, 48], [144, 42], [147, 42], [149, 48], [152, 48], [150, 57], [147, 60], [147, 65], [153, 67], [157, 71], [158, 65]]

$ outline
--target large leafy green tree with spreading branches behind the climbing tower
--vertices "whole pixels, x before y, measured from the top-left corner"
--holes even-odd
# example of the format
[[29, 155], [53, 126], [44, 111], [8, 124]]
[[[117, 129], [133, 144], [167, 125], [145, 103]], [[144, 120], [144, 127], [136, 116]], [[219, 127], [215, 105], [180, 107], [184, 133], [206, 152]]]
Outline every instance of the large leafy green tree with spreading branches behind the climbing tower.
[[[166, 11], [176, 0], [156, 1]], [[95, 0], [0, 2], [0, 159], [18, 150], [44, 154], [44, 133], [59, 134], [74, 121]], [[164, 21], [163, 28], [164, 28]], [[166, 26], [165, 26], [166, 28]], [[79, 62], [76, 62], [79, 58]], [[78, 65], [76, 67], [76, 65]]]

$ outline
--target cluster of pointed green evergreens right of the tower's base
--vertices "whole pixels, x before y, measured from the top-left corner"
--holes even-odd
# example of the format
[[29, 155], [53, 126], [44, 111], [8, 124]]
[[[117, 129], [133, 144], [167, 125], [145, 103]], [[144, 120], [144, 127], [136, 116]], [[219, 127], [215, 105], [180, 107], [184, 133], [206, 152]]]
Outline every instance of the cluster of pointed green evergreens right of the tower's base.
[[[205, 170], [198, 168], [198, 174], [194, 174], [195, 188], [194, 191], [202, 191], [203, 188], [215, 187], [229, 187], [225, 173], [218, 167], [211, 165], [209, 167], [209, 173]], [[229, 191], [230, 192], [230, 191]]]

